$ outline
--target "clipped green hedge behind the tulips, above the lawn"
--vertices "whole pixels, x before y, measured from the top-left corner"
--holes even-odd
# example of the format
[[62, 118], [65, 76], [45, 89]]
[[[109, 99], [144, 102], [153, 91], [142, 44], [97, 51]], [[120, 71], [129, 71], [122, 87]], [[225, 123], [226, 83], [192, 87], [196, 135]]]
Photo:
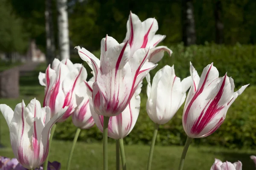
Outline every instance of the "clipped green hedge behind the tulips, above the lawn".
[[[236, 87], [250, 83], [250, 86], [239, 96], [230, 107], [227, 118], [223, 125], [211, 136], [202, 139], [193, 140], [194, 144], [220, 145], [229, 148], [244, 147], [256, 148], [256, 86], [255, 65], [256, 65], [256, 46], [253, 45], [194, 45], [184, 48], [183, 45], [177, 45], [171, 48], [173, 55], [171, 58], [164, 57], [159, 62], [156, 70], [151, 71], [153, 76], [155, 72], [164, 65], [175, 64], [175, 73], [182, 79], [189, 75], [189, 61], [193, 63], [201, 75], [203, 68], [214, 62], [218, 68], [220, 76], [227, 71], [232, 76]], [[99, 54], [95, 53], [95, 55]], [[151, 76], [151, 77], [152, 77]], [[141, 96], [140, 115], [132, 132], [125, 137], [126, 144], [150, 144], [153, 135], [154, 124], [146, 113], [146, 82], [143, 81], [143, 91]], [[157, 144], [162, 145], [183, 145], [186, 141], [186, 134], [182, 126], [183, 106], [176, 115], [165, 125], [160, 125], [157, 135]], [[62, 140], [73, 140], [76, 127], [72, 120], [60, 123], [55, 131], [55, 138]], [[102, 133], [96, 126], [90, 130], [82, 130], [79, 140], [85, 142], [96, 142], [102, 140]], [[113, 140], [111, 140], [113, 142]]]

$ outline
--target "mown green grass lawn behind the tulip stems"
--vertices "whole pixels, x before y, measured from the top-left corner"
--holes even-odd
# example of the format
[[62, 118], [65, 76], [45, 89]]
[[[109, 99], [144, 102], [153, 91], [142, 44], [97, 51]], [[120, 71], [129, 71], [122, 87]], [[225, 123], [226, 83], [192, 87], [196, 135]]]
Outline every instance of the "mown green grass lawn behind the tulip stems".
[[[36, 97], [41, 102], [44, 98], [44, 88], [39, 85], [38, 72], [45, 70], [45, 65], [40, 65], [38, 69], [20, 78], [20, 98], [0, 99], [0, 103], [15, 108], [15, 105], [24, 99], [28, 104]], [[42, 103], [41, 103], [42, 104]], [[1, 144], [5, 147], [0, 149], [1, 156], [13, 157], [9, 140], [9, 129], [5, 119], [0, 114]], [[57, 126], [58, 128], [58, 126]], [[50, 150], [50, 161], [61, 162], [62, 168], [66, 168], [68, 154], [72, 142], [53, 140]], [[128, 170], [145, 170], [148, 160], [148, 145], [125, 146], [125, 154]], [[156, 146], [154, 150], [152, 170], [177, 170], [180, 155], [183, 147], [180, 146]], [[109, 144], [109, 170], [115, 169], [115, 145]], [[237, 161], [243, 163], [243, 170], [255, 170], [255, 164], [250, 160], [250, 155], [256, 154], [256, 150], [229, 150], [220, 147], [189, 147], [183, 170], [209, 170], [214, 159], [222, 161]], [[102, 166], [102, 145], [100, 143], [87, 144], [78, 142], [73, 154], [71, 170], [101, 170]]]

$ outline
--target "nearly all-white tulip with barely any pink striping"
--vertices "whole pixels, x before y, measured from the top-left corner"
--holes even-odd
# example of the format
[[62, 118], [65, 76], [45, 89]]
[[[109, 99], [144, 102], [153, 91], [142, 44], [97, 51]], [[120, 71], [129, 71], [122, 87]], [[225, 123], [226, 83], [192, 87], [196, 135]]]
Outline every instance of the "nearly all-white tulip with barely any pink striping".
[[158, 125], [163, 125], [175, 115], [186, 99], [186, 91], [192, 84], [191, 77], [180, 82], [175, 76], [174, 66], [164, 66], [157, 71], [152, 86], [149, 74], [146, 77], [147, 86], [147, 113], [150, 119]]

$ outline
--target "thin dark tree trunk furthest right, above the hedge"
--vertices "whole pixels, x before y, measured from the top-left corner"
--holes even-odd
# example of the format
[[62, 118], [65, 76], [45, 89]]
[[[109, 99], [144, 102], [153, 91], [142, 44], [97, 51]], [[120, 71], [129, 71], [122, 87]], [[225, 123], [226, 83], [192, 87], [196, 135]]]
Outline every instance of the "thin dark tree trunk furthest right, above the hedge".
[[222, 6], [221, 0], [215, 0], [214, 4], [214, 17], [215, 17], [215, 43], [222, 44], [224, 40], [224, 24], [221, 19]]

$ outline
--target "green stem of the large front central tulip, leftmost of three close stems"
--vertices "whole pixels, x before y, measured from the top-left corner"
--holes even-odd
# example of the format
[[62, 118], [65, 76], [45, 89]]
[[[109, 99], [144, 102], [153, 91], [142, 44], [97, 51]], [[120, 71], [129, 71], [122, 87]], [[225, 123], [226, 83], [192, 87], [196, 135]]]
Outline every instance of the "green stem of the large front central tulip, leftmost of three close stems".
[[110, 117], [103, 118], [103, 169], [108, 170], [108, 121]]

